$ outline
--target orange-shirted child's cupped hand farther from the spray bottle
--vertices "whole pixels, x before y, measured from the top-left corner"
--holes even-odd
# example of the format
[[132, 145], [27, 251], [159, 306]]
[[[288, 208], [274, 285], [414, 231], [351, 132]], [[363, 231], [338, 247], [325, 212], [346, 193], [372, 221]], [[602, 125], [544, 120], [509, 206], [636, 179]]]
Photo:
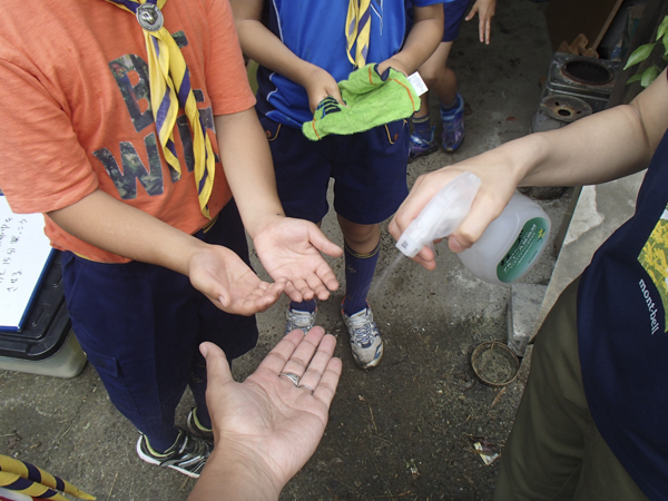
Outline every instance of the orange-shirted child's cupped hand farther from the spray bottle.
[[253, 315], [272, 306], [286, 281], [263, 282], [233, 250], [204, 244], [190, 257], [188, 276], [193, 286], [217, 307], [237, 315]]

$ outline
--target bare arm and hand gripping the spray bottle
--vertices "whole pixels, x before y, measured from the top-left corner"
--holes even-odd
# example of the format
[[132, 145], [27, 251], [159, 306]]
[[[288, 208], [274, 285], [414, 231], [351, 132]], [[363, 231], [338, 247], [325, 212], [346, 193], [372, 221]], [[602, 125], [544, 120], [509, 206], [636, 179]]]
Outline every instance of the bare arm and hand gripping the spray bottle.
[[[647, 167], [668, 128], [666, 70], [629, 105], [600, 111], [567, 127], [537, 132], [482, 155], [421, 176], [390, 224], [399, 238], [433, 195], [462, 171], [482, 185], [469, 216], [450, 236], [453, 252], [469, 248], [495, 219], [518, 186], [580, 186], [606, 183]], [[435, 267], [423, 248], [416, 262]]]

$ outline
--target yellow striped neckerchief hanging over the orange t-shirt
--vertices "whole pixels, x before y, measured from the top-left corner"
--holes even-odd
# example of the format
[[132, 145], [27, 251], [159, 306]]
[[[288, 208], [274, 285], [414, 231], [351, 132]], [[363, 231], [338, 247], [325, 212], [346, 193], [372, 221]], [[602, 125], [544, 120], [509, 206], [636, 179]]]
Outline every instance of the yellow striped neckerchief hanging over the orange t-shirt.
[[174, 126], [179, 108], [183, 108], [188, 117], [193, 134], [195, 183], [197, 184], [199, 208], [206, 217], [210, 217], [207, 203], [214, 187], [214, 150], [199, 119], [199, 110], [190, 86], [190, 73], [186, 60], [171, 33], [163, 26], [160, 9], [167, 0], [106, 1], [134, 13], [144, 30], [148, 56], [150, 106], [156, 129], [165, 159], [179, 175], [181, 166], [174, 145]]

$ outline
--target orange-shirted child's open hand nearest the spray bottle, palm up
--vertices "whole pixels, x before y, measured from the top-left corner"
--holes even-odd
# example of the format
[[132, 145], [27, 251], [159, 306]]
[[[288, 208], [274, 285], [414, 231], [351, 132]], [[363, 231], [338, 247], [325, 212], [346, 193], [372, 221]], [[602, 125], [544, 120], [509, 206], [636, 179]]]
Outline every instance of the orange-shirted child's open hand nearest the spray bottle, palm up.
[[266, 272], [275, 281], [287, 279], [285, 294], [292, 301], [317, 296], [324, 301], [338, 281], [322, 253], [338, 257], [343, 249], [325, 237], [311, 222], [276, 216], [253, 237], [255, 250]]

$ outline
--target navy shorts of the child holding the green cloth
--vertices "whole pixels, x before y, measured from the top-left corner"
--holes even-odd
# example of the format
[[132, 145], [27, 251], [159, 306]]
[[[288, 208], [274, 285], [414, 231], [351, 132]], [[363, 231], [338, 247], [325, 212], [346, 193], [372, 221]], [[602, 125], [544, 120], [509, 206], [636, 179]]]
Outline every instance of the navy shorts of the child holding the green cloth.
[[261, 122], [272, 148], [278, 197], [289, 217], [322, 220], [330, 208], [330, 178], [336, 214], [361, 225], [387, 219], [409, 194], [406, 120], [320, 141], [267, 117]]

